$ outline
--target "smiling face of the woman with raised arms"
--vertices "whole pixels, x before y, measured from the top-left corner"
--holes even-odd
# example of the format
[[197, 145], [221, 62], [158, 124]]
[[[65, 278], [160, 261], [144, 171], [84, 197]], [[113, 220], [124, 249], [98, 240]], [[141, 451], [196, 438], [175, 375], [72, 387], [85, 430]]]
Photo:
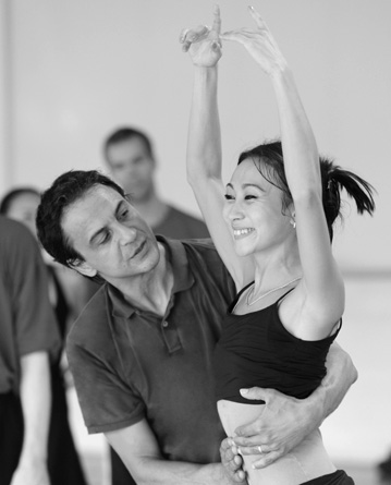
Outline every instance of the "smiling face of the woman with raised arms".
[[273, 251], [292, 234], [289, 210], [282, 211], [282, 191], [259, 173], [253, 159], [236, 167], [225, 198], [223, 217], [240, 256]]

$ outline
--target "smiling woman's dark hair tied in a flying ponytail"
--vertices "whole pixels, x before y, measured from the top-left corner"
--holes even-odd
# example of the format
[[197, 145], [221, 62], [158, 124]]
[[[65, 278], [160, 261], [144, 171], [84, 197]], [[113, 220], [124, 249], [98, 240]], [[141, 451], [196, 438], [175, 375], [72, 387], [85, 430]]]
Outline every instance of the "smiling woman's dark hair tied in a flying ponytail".
[[[243, 151], [239, 157], [237, 165], [248, 158], [254, 160], [259, 173], [268, 182], [282, 191], [282, 213], [284, 213], [292, 203], [292, 195], [286, 182], [281, 142], [278, 140], [267, 142]], [[259, 162], [260, 160], [262, 163]], [[325, 216], [329, 229], [330, 241], [332, 241], [332, 226], [338, 217], [342, 219], [342, 189], [344, 189], [347, 195], [354, 199], [358, 214], [367, 211], [370, 215], [372, 215], [375, 210], [375, 201], [372, 196], [375, 189], [361, 177], [349, 170], [343, 170], [328, 158], [319, 157], [319, 163]]]

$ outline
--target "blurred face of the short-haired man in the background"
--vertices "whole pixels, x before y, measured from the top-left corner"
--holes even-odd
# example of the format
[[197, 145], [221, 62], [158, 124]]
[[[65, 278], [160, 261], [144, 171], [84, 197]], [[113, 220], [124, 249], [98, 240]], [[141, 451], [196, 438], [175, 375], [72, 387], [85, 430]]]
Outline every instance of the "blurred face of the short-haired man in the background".
[[154, 192], [155, 161], [138, 136], [110, 145], [107, 158], [115, 182], [135, 203]]

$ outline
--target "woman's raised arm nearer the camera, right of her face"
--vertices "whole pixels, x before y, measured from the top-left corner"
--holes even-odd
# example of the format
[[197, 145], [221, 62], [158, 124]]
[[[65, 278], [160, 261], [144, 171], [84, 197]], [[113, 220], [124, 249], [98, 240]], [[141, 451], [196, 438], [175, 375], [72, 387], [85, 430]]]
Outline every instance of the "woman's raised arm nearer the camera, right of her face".
[[304, 302], [301, 332], [296, 336], [319, 339], [329, 335], [341, 317], [344, 289], [332, 256], [322, 206], [318, 149], [293, 74], [259, 13], [254, 8], [249, 8], [249, 12], [256, 28], [225, 33], [221, 38], [242, 44], [269, 75], [274, 88], [303, 271], [296, 289]]

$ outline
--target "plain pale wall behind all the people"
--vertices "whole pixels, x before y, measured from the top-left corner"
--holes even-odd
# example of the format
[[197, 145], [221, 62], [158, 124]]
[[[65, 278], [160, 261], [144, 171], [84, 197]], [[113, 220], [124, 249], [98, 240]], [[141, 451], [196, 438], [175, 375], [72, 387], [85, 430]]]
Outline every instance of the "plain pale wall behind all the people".
[[[178, 37], [182, 27], [210, 24], [213, 3], [2, 0], [0, 192], [26, 183], [44, 189], [65, 170], [102, 168], [103, 137], [129, 123], [155, 141], [162, 197], [198, 214], [184, 169], [192, 65]], [[219, 4], [223, 29], [252, 25], [247, 2]], [[350, 217], [334, 244], [347, 278], [341, 342], [361, 379], [325, 425], [337, 457], [376, 460], [391, 445], [391, 3], [253, 4], [295, 73], [320, 151], [378, 191], [374, 218], [356, 217], [346, 202]], [[240, 150], [278, 135], [279, 126], [266, 76], [240, 46], [223, 50], [219, 98], [229, 177]]]

